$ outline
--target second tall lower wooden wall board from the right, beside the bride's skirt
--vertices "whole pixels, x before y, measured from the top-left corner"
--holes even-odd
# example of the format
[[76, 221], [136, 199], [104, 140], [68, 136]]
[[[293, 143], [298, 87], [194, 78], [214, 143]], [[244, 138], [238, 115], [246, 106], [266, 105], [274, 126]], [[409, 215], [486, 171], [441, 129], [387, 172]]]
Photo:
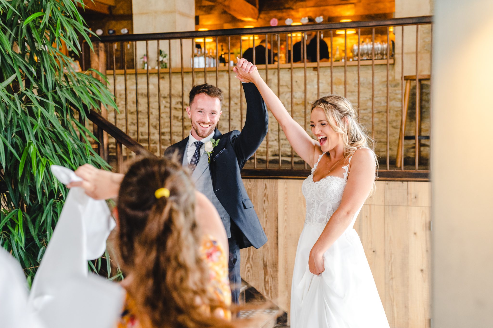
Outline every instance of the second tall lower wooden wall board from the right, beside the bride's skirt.
[[[387, 200], [387, 193], [386, 193]], [[406, 197], [407, 200], [407, 197]], [[385, 303], [392, 328], [411, 328], [409, 320], [409, 208], [385, 206]]]

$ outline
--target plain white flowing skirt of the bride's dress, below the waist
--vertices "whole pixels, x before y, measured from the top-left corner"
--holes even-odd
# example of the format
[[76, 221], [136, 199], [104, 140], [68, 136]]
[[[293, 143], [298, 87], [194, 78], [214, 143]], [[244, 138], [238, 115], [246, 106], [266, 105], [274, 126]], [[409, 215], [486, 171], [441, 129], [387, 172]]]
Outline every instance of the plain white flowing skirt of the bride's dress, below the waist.
[[291, 286], [291, 328], [388, 328], [363, 246], [354, 229], [346, 230], [324, 253], [314, 275], [310, 251], [323, 226], [307, 225], [296, 250]]

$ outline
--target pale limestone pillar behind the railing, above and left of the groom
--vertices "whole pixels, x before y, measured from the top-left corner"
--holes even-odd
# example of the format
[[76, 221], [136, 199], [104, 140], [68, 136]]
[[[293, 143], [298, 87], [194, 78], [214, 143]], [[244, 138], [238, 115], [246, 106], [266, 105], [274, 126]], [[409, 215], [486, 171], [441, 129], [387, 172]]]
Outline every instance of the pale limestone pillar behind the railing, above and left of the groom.
[[[133, 0], [134, 33], [164, 33], [195, 30], [194, 0]], [[168, 41], [161, 40], [159, 48], [170, 54]], [[179, 67], [180, 42], [171, 41], [171, 64]], [[148, 42], [149, 68], [157, 66], [157, 41]], [[141, 57], [145, 54], [145, 42], [137, 42], [137, 60], [141, 67]], [[190, 66], [192, 41], [183, 40], [183, 66]]]

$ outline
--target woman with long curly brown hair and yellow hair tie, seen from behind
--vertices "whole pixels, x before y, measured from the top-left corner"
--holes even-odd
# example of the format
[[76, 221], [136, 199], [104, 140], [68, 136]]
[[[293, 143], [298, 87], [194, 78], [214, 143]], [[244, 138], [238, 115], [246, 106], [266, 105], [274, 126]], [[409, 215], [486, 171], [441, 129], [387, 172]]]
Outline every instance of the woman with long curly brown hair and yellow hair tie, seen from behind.
[[118, 328], [232, 327], [228, 243], [217, 211], [181, 165], [143, 158], [117, 174], [75, 173], [96, 199], [118, 196], [116, 253], [125, 279]]

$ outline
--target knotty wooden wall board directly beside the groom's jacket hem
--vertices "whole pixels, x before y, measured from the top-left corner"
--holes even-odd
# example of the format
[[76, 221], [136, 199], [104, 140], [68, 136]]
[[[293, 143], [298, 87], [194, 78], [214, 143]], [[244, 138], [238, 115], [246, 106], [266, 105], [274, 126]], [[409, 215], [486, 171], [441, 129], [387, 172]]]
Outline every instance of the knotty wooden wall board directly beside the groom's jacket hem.
[[241, 276], [270, 299], [278, 297], [278, 196], [277, 180], [244, 179], [267, 243], [260, 249], [241, 250]]

